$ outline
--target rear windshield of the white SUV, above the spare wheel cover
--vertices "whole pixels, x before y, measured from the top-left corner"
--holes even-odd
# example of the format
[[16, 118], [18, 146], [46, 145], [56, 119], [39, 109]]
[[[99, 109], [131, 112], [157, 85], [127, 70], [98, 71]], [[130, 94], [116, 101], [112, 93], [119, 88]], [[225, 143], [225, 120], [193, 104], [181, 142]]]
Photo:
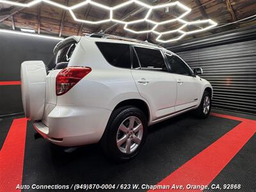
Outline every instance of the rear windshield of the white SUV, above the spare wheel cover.
[[76, 45], [77, 42], [70, 42], [61, 47], [61, 49], [54, 54], [51, 62], [47, 65], [48, 70], [67, 67]]

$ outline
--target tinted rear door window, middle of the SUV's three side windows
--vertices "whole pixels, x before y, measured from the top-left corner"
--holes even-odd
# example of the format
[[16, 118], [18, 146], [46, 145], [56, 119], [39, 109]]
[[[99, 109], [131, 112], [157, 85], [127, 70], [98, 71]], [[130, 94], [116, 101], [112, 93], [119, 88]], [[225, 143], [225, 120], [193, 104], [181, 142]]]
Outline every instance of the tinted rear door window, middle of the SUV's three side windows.
[[159, 50], [134, 47], [142, 69], [160, 70], [167, 72], [163, 55]]

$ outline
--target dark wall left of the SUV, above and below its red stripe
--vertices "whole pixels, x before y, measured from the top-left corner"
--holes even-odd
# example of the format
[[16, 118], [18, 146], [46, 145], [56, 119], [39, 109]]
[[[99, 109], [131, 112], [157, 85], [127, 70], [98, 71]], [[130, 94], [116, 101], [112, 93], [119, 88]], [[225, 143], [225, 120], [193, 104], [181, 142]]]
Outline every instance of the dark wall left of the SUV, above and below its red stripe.
[[[0, 81], [20, 81], [20, 64], [52, 59], [58, 40], [0, 33]], [[0, 116], [23, 113], [20, 85], [0, 86]]]

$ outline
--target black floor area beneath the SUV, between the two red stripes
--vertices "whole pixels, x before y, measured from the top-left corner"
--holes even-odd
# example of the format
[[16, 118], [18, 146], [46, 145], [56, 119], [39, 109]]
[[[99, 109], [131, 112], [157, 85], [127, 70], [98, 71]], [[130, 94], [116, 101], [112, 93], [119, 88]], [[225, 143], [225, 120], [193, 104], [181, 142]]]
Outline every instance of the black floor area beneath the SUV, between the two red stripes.
[[[108, 159], [98, 144], [67, 153], [45, 140], [35, 141], [29, 125], [24, 183], [49, 184], [51, 180], [52, 184], [156, 184], [216, 139], [211, 126], [215, 118], [198, 120], [184, 113], [148, 127], [145, 146], [126, 163]], [[202, 129], [211, 131], [209, 139], [205, 140]]]

